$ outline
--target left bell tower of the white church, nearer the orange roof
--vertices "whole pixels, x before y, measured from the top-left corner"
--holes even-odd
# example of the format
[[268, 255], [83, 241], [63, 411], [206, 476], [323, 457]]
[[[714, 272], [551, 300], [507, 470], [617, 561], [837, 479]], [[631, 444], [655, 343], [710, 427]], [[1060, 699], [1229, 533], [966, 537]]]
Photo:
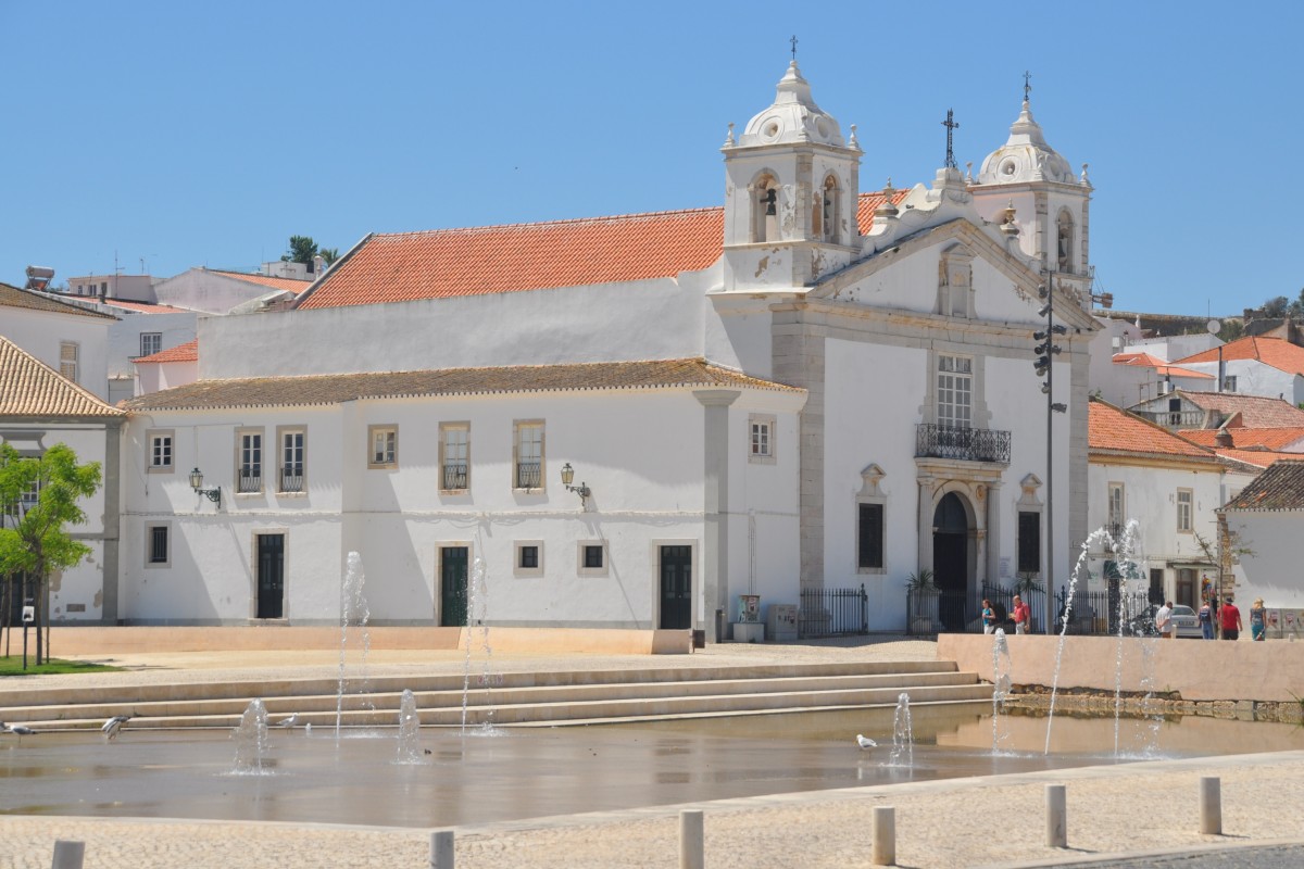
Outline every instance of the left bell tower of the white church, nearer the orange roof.
[[846, 266], [859, 249], [861, 147], [811, 98], [795, 50], [775, 102], [725, 155], [725, 291], [790, 291]]

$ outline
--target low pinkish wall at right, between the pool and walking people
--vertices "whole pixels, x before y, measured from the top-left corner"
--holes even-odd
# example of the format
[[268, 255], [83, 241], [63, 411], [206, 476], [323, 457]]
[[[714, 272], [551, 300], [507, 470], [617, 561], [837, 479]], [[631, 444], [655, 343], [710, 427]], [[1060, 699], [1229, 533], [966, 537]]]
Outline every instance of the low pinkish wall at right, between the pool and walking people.
[[[1011, 681], [1055, 685], [1059, 691], [1153, 691], [1183, 701], [1300, 702], [1304, 697], [1304, 642], [1227, 642], [1140, 637], [1008, 636]], [[985, 634], [944, 633], [938, 658], [992, 680], [994, 640]], [[1121, 667], [1119, 662], [1121, 661]], [[1149, 685], [1144, 684], [1149, 676]], [[1121, 681], [1118, 681], [1121, 677]]]

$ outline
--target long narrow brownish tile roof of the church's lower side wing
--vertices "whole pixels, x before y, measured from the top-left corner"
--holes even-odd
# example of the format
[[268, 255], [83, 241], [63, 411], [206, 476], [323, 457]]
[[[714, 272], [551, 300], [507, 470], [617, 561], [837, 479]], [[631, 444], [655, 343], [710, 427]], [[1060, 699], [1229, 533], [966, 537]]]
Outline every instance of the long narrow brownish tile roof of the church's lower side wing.
[[674, 387], [802, 392], [698, 358], [198, 380], [132, 399], [123, 406], [129, 410], [304, 406], [408, 396]]

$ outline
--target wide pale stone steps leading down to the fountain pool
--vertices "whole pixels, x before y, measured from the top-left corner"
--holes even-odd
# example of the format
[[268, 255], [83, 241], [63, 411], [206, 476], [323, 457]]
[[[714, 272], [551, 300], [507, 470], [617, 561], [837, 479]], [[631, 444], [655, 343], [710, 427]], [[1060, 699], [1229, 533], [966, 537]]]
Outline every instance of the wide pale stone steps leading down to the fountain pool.
[[0, 720], [35, 730], [98, 728], [112, 715], [129, 727], [222, 727], [240, 723], [261, 698], [273, 724], [395, 724], [411, 691], [422, 726], [592, 724], [666, 718], [755, 715], [895, 706], [990, 704], [992, 687], [953, 662], [808, 663], [752, 667], [645, 667], [545, 672], [471, 672], [413, 677], [283, 679], [94, 688], [0, 689]]

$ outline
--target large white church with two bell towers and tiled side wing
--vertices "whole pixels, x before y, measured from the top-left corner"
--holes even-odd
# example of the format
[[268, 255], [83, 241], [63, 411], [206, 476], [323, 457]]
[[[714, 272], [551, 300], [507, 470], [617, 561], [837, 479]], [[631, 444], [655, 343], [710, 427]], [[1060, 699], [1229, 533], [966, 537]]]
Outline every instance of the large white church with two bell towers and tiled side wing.
[[1086, 532], [1085, 167], [1025, 91], [975, 176], [948, 147], [862, 192], [795, 60], [721, 154], [720, 207], [370, 235], [288, 309], [202, 318], [198, 379], [125, 405], [85, 618], [338, 623], [352, 551], [372, 624], [713, 641], [739, 595], [863, 588], [902, 631], [931, 575], [962, 629], [1045, 581]]

